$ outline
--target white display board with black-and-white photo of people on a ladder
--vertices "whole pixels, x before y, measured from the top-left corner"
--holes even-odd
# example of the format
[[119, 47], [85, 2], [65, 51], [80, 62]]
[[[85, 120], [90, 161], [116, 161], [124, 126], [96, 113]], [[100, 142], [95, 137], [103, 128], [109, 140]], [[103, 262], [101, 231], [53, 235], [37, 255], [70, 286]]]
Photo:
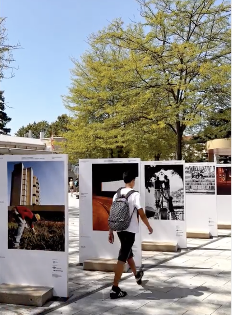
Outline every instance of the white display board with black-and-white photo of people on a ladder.
[[187, 248], [184, 183], [183, 161], [141, 162], [142, 207], [153, 228], [149, 235], [142, 223], [142, 241], [176, 241]]

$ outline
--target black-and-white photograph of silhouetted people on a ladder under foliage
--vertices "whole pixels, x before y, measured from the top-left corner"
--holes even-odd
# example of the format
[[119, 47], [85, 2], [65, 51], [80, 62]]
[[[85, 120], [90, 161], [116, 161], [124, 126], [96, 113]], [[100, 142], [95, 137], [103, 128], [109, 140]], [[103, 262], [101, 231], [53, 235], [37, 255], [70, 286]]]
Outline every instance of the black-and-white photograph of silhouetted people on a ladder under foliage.
[[145, 165], [148, 220], [184, 221], [183, 164]]

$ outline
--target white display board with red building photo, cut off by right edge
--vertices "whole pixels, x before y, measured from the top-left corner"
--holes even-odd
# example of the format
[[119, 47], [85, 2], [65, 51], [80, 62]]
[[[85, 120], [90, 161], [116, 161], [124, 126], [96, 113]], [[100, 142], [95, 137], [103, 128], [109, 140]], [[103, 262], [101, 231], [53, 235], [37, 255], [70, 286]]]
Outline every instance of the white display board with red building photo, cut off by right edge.
[[231, 164], [217, 164], [217, 223], [231, 225]]

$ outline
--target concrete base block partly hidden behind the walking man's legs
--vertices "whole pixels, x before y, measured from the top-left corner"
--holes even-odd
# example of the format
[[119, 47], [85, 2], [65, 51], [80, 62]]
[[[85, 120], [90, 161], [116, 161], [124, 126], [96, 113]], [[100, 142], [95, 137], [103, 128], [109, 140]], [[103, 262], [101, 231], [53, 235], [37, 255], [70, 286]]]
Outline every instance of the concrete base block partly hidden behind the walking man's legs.
[[[83, 263], [84, 270], [114, 272], [117, 259], [95, 258], [87, 259]], [[129, 270], [129, 265], [125, 264], [123, 272]]]

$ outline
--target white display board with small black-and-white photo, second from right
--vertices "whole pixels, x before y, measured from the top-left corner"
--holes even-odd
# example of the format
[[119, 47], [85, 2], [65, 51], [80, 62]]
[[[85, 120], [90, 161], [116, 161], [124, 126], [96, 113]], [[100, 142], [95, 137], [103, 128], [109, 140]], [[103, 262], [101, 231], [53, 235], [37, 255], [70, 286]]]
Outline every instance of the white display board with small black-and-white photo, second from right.
[[187, 232], [217, 236], [215, 163], [185, 163]]

